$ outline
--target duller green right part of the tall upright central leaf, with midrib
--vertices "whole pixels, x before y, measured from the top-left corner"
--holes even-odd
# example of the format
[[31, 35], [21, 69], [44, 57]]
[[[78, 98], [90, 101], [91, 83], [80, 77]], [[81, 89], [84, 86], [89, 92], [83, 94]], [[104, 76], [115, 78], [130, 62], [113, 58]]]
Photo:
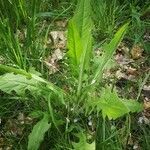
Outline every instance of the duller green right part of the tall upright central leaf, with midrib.
[[92, 50], [92, 19], [91, 19], [91, 0], [78, 1], [77, 10], [73, 17], [73, 22], [77, 25], [81, 42], [82, 57], [80, 71], [88, 68], [90, 54]]

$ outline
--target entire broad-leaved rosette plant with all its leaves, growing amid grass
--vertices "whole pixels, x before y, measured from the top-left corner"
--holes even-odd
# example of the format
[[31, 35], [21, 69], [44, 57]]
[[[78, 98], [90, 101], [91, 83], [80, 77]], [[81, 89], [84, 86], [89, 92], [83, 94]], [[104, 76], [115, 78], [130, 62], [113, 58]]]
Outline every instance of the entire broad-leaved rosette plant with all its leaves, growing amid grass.
[[[72, 82], [67, 84], [68, 91], [30, 71], [0, 65], [0, 70], [7, 72], [0, 76], [0, 90], [10, 95], [15, 92], [18, 96], [33, 96], [35, 103], [43, 102], [38, 110], [33, 107], [31, 111], [32, 115], [38, 114], [35, 115], [36, 118], [42, 119], [36, 123], [29, 135], [29, 150], [38, 149], [47, 134], [55, 135], [52, 148], [107, 149], [107, 141], [112, 141], [112, 138], [119, 139], [116, 130], [111, 131], [112, 136], [107, 133], [110, 130], [109, 120], [142, 110], [138, 102], [119, 98], [115, 90], [101, 86], [103, 73], [109, 67], [109, 61], [123, 39], [129, 23], [116, 32], [110, 43], [102, 46], [103, 54], [98, 57], [98, 64], [95, 64], [91, 61], [95, 56], [92, 51], [93, 22], [90, 3], [91, 0], [78, 1], [75, 15], [69, 22], [67, 75]], [[96, 138], [92, 135], [91, 142], [87, 142], [89, 131], [85, 120], [81, 119], [79, 125], [76, 125], [76, 121], [71, 121], [76, 116], [85, 118], [87, 115], [96, 116]], [[76, 140], [78, 137], [79, 142]], [[61, 140], [65, 141], [62, 145], [59, 143]], [[121, 144], [118, 145], [119, 148], [122, 147]]]

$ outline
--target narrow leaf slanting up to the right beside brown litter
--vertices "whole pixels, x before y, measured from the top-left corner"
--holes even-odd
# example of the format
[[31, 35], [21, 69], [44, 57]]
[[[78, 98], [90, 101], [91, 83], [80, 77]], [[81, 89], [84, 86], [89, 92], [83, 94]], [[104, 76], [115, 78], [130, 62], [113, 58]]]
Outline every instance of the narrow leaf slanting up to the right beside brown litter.
[[99, 79], [101, 79], [104, 69], [107, 67], [109, 60], [112, 58], [115, 50], [117, 49], [117, 46], [124, 37], [128, 25], [129, 23], [123, 25], [114, 35], [114, 38], [111, 40], [111, 42], [109, 44], [104, 45], [103, 47], [104, 54], [101, 57], [102, 59], [98, 65], [98, 68], [95, 71], [94, 78], [91, 84], [95, 84], [97, 81], [99, 81]]

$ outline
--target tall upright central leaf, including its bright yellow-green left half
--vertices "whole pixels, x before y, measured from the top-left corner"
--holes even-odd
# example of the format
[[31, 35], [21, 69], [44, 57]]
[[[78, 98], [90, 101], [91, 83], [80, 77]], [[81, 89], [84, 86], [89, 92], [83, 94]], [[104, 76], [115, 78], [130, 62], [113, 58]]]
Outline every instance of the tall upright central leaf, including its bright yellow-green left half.
[[80, 0], [74, 17], [69, 22], [68, 28], [68, 56], [71, 62], [80, 70], [84, 70], [89, 63], [92, 47], [92, 20], [91, 0]]

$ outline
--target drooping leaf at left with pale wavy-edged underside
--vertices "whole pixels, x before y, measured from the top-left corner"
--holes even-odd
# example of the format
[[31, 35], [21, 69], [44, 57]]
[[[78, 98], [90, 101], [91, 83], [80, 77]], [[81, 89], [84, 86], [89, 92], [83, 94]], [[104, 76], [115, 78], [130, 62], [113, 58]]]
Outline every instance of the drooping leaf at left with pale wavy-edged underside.
[[0, 90], [8, 94], [15, 91], [18, 95], [25, 94], [25, 91], [28, 90], [32, 95], [40, 96], [48, 95], [50, 92], [53, 92], [59, 97], [61, 103], [65, 104], [63, 99], [64, 91], [53, 83], [46, 81], [44, 78], [36, 74], [27, 73], [24, 70], [4, 65], [0, 65], [0, 69], [3, 72], [15, 73], [6, 73], [0, 76]]

